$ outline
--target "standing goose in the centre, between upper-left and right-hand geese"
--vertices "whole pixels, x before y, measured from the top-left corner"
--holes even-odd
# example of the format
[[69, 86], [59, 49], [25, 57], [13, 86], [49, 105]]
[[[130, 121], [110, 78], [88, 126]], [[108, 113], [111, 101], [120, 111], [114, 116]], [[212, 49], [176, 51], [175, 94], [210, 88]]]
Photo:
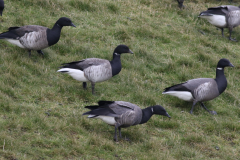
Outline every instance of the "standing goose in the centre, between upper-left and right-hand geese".
[[74, 79], [83, 82], [83, 88], [86, 89], [88, 81], [91, 82], [92, 94], [94, 94], [94, 87], [96, 82], [102, 82], [117, 75], [121, 69], [122, 53], [133, 52], [126, 45], [118, 45], [114, 52], [112, 61], [99, 58], [87, 58], [81, 61], [74, 61], [64, 63], [61, 69], [57, 72], [67, 73]]

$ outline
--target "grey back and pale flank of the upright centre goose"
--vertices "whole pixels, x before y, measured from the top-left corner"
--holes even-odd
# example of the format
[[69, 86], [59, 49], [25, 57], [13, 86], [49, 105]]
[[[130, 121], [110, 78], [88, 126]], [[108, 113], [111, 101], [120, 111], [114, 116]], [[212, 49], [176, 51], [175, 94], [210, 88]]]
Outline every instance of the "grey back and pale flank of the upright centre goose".
[[91, 82], [102, 82], [112, 77], [112, 67], [108, 60], [99, 58], [84, 59], [77, 64]]

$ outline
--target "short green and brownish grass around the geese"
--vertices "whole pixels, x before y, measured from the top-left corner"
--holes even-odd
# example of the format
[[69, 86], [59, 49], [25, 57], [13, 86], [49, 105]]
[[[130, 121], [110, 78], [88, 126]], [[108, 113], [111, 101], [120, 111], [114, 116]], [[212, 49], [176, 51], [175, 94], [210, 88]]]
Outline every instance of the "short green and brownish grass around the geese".
[[[5, 2], [1, 32], [11, 26], [42, 25], [69, 17], [60, 41], [28, 57], [26, 50], [0, 42], [0, 159], [239, 159], [240, 45], [197, 18], [228, 0], [12, 0]], [[232, 5], [238, 6], [237, 0]], [[224, 32], [228, 36], [228, 31]], [[203, 34], [204, 33], [204, 34]], [[239, 27], [233, 37], [240, 40]], [[62, 63], [84, 58], [111, 59], [126, 44], [123, 69], [97, 83], [96, 96], [68, 75]], [[196, 105], [162, 95], [164, 88], [188, 79], [215, 77], [219, 59], [228, 58], [226, 91], [206, 102], [212, 116]], [[160, 104], [171, 115], [122, 129], [132, 143], [113, 141], [114, 128], [87, 119], [84, 106], [99, 100], [128, 101], [145, 108]]]

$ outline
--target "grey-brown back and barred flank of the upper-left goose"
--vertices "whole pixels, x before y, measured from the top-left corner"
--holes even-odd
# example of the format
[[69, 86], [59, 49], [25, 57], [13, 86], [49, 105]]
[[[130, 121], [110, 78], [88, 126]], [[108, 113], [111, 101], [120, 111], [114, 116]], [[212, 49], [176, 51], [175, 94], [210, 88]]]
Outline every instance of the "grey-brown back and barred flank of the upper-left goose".
[[48, 47], [47, 27], [38, 25], [23, 26], [15, 30], [20, 38], [20, 43], [33, 50], [41, 50]]

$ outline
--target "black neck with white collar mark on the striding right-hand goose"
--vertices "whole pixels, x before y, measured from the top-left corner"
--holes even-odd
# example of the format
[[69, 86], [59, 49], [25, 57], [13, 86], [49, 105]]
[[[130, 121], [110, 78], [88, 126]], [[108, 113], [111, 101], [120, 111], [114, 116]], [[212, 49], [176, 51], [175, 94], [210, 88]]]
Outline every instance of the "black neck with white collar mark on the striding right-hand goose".
[[221, 94], [227, 88], [227, 79], [224, 75], [224, 68], [217, 67], [215, 81], [218, 85], [219, 94]]

